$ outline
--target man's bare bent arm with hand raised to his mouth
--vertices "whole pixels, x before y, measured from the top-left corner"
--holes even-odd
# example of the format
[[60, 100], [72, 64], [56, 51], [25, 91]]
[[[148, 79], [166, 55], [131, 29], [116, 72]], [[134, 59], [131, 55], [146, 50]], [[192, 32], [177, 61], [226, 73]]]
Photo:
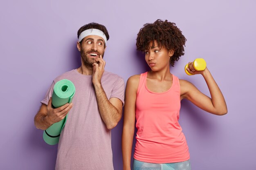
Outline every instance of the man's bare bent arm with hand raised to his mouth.
[[107, 128], [112, 129], [117, 126], [117, 123], [122, 117], [123, 104], [120, 99], [115, 97], [108, 100], [106, 93], [101, 86], [101, 77], [104, 73], [106, 62], [102, 59], [101, 55], [96, 59], [96, 61], [99, 63], [92, 64], [92, 83], [94, 85], [95, 94], [97, 97], [99, 113]]

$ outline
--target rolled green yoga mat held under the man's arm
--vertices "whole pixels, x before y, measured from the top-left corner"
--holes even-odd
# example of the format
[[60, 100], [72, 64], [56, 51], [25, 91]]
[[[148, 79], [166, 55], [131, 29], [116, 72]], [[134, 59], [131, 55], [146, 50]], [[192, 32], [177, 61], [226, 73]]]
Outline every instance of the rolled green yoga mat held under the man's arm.
[[[66, 103], [71, 103], [75, 94], [75, 86], [68, 79], [62, 79], [54, 85], [52, 93], [52, 108], [58, 108]], [[64, 128], [67, 120], [67, 115], [61, 121], [52, 124], [49, 128], [44, 130], [43, 139], [49, 145], [58, 144], [61, 130]]]

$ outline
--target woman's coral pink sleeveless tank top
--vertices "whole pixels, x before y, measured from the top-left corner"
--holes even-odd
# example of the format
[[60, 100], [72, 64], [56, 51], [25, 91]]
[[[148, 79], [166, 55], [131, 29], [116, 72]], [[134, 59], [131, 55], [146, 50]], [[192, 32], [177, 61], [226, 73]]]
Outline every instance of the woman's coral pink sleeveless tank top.
[[180, 116], [180, 82], [163, 93], [147, 88], [147, 74], [139, 79], [136, 99], [136, 145], [134, 158], [150, 163], [174, 163], [189, 159], [189, 148], [178, 122]]

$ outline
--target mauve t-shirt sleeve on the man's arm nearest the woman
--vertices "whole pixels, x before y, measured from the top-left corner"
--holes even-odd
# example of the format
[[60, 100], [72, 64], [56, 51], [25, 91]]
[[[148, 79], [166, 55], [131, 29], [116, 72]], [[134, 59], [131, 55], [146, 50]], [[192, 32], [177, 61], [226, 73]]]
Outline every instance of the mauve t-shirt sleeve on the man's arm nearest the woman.
[[123, 106], [124, 106], [124, 88], [125, 88], [124, 79], [119, 78], [115, 83], [112, 93], [110, 95], [110, 98], [116, 97], [120, 99], [123, 103]]

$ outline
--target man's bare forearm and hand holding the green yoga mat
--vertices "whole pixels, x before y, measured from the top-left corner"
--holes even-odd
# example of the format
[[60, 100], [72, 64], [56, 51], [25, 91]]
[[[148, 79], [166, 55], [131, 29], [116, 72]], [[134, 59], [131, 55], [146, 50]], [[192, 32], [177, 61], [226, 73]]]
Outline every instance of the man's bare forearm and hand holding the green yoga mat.
[[72, 108], [72, 103], [67, 103], [58, 108], [52, 108], [52, 97], [50, 97], [48, 105], [42, 104], [38, 113], [34, 117], [36, 128], [46, 130], [52, 124], [61, 121]]

